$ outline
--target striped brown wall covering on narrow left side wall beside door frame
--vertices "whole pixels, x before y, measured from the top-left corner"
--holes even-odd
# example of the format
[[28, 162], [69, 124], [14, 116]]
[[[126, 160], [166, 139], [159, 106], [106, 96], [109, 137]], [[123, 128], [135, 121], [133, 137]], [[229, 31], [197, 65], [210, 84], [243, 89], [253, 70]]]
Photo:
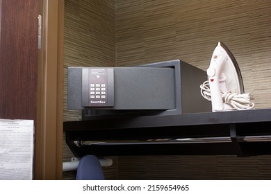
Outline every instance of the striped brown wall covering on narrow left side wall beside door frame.
[[[113, 0], [65, 0], [64, 18], [64, 121], [81, 120], [80, 111], [67, 110], [67, 67], [115, 67], [115, 2]], [[63, 161], [74, 157], [65, 143]], [[117, 179], [117, 157], [104, 169], [106, 179]], [[63, 179], [74, 179], [74, 171]]]

